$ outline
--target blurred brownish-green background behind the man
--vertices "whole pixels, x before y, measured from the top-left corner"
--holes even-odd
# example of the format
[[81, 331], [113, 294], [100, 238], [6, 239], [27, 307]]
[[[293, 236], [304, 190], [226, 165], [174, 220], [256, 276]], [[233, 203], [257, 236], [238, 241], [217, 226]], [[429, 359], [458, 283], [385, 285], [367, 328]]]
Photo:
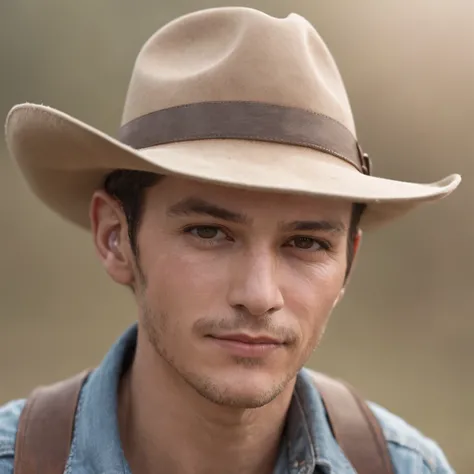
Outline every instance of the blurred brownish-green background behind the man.
[[[226, 1], [0, 2], [0, 115], [57, 107], [115, 134], [135, 56], [160, 26]], [[235, 5], [235, 4], [234, 4]], [[375, 173], [450, 198], [364, 236], [343, 303], [310, 365], [345, 378], [474, 464], [474, 2], [260, 0], [306, 16], [345, 78]], [[297, 84], [295, 84], [297, 87]], [[3, 120], [3, 119], [2, 119]], [[89, 235], [26, 189], [0, 141], [0, 403], [100, 362], [135, 318]]]

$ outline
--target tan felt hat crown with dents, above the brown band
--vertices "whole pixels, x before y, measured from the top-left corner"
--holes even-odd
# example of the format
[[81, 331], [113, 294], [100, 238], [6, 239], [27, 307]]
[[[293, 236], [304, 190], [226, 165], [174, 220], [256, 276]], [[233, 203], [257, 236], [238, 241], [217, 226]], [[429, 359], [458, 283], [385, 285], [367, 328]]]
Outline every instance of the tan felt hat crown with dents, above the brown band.
[[252, 101], [327, 115], [355, 135], [337, 65], [303, 17], [243, 7], [203, 10], [158, 30], [132, 73], [122, 124], [197, 102]]

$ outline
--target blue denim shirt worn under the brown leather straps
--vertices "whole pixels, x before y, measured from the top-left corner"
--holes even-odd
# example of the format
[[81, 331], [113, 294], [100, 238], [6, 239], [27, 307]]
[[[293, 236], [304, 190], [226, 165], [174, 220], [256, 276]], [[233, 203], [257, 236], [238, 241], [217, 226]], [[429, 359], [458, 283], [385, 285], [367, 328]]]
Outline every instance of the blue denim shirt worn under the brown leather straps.
[[[76, 415], [67, 474], [130, 474], [120, 444], [117, 387], [124, 361], [133, 355], [137, 329], [115, 343], [84, 385]], [[24, 400], [0, 407], [0, 474], [13, 473], [15, 436]], [[396, 473], [454, 471], [440, 448], [387, 410], [370, 405], [380, 420]], [[328, 425], [322, 400], [306, 369], [297, 377], [275, 474], [354, 474]]]

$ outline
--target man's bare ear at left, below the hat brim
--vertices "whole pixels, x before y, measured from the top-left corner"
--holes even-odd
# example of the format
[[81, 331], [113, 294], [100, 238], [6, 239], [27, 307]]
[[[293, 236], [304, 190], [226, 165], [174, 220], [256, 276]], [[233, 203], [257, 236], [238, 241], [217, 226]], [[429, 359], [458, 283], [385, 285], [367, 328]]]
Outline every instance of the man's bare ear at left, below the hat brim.
[[97, 254], [109, 276], [117, 283], [132, 286], [134, 256], [128, 226], [119, 203], [105, 191], [96, 191], [89, 217]]

